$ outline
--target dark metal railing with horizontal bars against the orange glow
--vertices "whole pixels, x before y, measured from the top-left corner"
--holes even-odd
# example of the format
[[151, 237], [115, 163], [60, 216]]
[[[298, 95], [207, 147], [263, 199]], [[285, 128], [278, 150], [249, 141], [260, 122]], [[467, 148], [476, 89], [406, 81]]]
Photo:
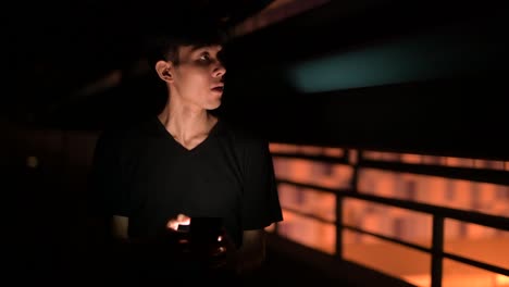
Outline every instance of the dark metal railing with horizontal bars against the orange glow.
[[[351, 151], [351, 150], [349, 150]], [[450, 166], [438, 166], [431, 164], [406, 164], [400, 162], [386, 162], [386, 161], [373, 161], [367, 160], [362, 155], [362, 151], [352, 150], [357, 157], [353, 161], [349, 158], [349, 153], [346, 152], [342, 158], [328, 158], [323, 155], [308, 155], [300, 153], [278, 153], [273, 152], [274, 158], [291, 158], [291, 159], [305, 159], [310, 161], [325, 162], [325, 163], [336, 163], [336, 164], [348, 164], [353, 167], [353, 174], [351, 178], [351, 188], [326, 188], [322, 186], [302, 184], [294, 180], [278, 178], [280, 184], [293, 185], [296, 187], [310, 188], [314, 190], [320, 190], [324, 192], [331, 192], [336, 196], [336, 221], [330, 222], [320, 216], [305, 213], [298, 209], [287, 209], [286, 210], [320, 221], [324, 223], [333, 223], [336, 225], [336, 252], [335, 257], [343, 260], [343, 230], [348, 229], [356, 233], [369, 235], [376, 237], [382, 240], [390, 241], [400, 246], [405, 246], [411, 249], [420, 250], [431, 254], [431, 286], [432, 287], [442, 287], [443, 282], [443, 261], [444, 259], [450, 259], [463, 264], [475, 266], [482, 270], [495, 272], [509, 276], [509, 270], [506, 267], [497, 266], [494, 264], [487, 264], [477, 260], [472, 260], [458, 254], [449, 253], [444, 250], [444, 234], [445, 226], [444, 222], [446, 219], [457, 220], [465, 223], [473, 223], [482, 226], [494, 227], [501, 230], [509, 230], [509, 217], [489, 215], [476, 211], [464, 211], [445, 207], [437, 207], [433, 204], [413, 202], [408, 200], [386, 198], [380, 196], [373, 196], [363, 194], [362, 190], [358, 190], [358, 172], [360, 169], [378, 169], [383, 171], [392, 172], [405, 172], [413, 173], [420, 175], [432, 175], [440, 176], [452, 179], [467, 179], [472, 182], [482, 182], [482, 183], [493, 183], [509, 185], [509, 172], [508, 171], [495, 171], [486, 169], [470, 169], [470, 167], [450, 167]], [[351, 154], [350, 154], [351, 155]], [[371, 203], [381, 203], [394, 208], [401, 208], [409, 211], [422, 212], [432, 216], [433, 219], [433, 229], [432, 229], [432, 244], [431, 247], [423, 247], [415, 244], [411, 244], [395, 237], [372, 233], [356, 226], [344, 224], [343, 220], [343, 209], [345, 204], [345, 199], [359, 199], [364, 200]]]

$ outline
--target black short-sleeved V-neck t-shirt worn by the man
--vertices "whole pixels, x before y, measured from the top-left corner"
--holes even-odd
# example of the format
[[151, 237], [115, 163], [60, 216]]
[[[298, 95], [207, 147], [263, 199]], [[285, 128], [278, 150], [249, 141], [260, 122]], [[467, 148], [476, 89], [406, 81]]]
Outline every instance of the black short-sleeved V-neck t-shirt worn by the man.
[[281, 221], [268, 141], [220, 120], [191, 150], [157, 116], [97, 141], [94, 210], [129, 219], [131, 237], [153, 237], [178, 213], [222, 217], [237, 246], [241, 232]]

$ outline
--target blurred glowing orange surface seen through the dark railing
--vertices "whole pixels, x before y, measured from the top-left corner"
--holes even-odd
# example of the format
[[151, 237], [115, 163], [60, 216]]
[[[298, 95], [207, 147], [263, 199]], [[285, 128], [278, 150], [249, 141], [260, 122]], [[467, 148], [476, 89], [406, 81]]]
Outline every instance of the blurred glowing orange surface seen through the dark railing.
[[[277, 152], [327, 155], [334, 151], [344, 157], [343, 149], [274, 145]], [[281, 184], [281, 201], [285, 221], [277, 225], [277, 234], [325, 253], [335, 250], [334, 194], [320, 191], [319, 187], [349, 187], [357, 150], [348, 151], [348, 164], [331, 164], [320, 161], [274, 158], [276, 176], [281, 179], [310, 184], [318, 189]], [[509, 162], [430, 154], [363, 151], [364, 159], [452, 167], [509, 171]], [[358, 170], [358, 191], [378, 197], [400, 199], [465, 211], [476, 211], [495, 216], [507, 216], [509, 186], [392, 172], [377, 169]], [[343, 201], [344, 224], [378, 235], [431, 247], [432, 219], [429, 214], [371, 203], [359, 199]], [[300, 213], [290, 212], [298, 211]], [[307, 216], [310, 214], [311, 216]], [[323, 219], [325, 222], [314, 217]], [[274, 229], [273, 229], [274, 230]], [[501, 267], [509, 267], [509, 233], [465, 222], [446, 220], [444, 249]], [[318, 236], [319, 235], [319, 236]], [[346, 259], [399, 277], [420, 287], [431, 285], [431, 255], [398, 244], [377, 239], [355, 232], [343, 232], [343, 254]], [[444, 287], [501, 287], [509, 286], [509, 277], [480, 270], [471, 265], [444, 260]]]

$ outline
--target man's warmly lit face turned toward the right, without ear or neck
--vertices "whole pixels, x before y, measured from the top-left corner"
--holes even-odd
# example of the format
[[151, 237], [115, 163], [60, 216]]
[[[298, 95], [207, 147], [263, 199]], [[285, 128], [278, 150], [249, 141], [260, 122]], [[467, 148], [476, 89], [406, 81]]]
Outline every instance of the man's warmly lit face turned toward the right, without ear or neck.
[[218, 58], [221, 50], [221, 46], [178, 49], [179, 62], [173, 66], [172, 84], [184, 102], [207, 110], [220, 107], [226, 73]]

